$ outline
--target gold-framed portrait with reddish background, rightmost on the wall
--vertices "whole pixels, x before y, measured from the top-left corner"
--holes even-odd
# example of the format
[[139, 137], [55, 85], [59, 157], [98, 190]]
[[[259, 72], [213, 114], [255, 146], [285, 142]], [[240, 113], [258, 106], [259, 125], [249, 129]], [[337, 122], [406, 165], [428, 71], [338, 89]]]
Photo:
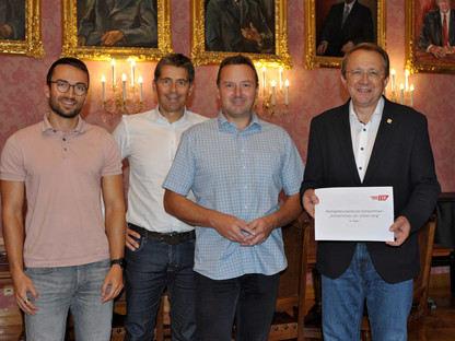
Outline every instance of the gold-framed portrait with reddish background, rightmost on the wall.
[[455, 73], [453, 3], [406, 0], [406, 59], [411, 72]]

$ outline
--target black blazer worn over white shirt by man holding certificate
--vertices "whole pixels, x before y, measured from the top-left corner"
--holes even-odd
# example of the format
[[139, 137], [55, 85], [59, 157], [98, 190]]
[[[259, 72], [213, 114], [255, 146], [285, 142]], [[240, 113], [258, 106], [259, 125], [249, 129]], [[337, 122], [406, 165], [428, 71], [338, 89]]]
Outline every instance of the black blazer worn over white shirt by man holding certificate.
[[[430, 216], [441, 191], [422, 114], [385, 99], [363, 183], [352, 151], [349, 102], [313, 118], [301, 196], [307, 189], [361, 186], [393, 186], [395, 217], [404, 215], [411, 225], [409, 237], [399, 247], [366, 243], [376, 271], [388, 283], [415, 278], [419, 273], [416, 232]], [[340, 277], [355, 246], [355, 242], [318, 242], [317, 269], [328, 278]]]

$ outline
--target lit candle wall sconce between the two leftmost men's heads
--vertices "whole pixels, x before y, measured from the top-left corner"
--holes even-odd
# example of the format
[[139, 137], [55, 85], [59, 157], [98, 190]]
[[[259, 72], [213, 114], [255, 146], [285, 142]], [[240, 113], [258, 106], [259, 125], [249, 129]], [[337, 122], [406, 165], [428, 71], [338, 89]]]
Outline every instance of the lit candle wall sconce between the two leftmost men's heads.
[[140, 113], [144, 107], [142, 95], [142, 77], [139, 77], [136, 83], [136, 62], [131, 60], [131, 78], [127, 84], [127, 74], [121, 75], [121, 85], [116, 82], [116, 62], [115, 59], [110, 61], [112, 82], [106, 91], [106, 79], [103, 75], [101, 79], [103, 86], [103, 102], [101, 107], [109, 115], [131, 115]]

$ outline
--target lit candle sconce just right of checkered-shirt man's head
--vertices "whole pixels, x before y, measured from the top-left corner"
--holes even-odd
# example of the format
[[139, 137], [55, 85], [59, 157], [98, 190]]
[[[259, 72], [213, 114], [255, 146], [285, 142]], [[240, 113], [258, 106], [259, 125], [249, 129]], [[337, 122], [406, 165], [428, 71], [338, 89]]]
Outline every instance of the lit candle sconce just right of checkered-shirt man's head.
[[[283, 83], [283, 68], [278, 73], [278, 89], [275, 80], [267, 84], [267, 69], [261, 69], [261, 90], [259, 90], [255, 111], [260, 117], [278, 118], [289, 113], [289, 81]], [[283, 86], [284, 85], [284, 86]]]

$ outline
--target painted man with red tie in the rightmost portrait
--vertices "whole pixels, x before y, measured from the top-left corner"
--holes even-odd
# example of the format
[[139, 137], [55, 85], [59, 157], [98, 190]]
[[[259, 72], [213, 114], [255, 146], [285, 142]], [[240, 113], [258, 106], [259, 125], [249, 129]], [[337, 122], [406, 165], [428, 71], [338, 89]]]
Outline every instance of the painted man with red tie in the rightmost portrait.
[[435, 0], [438, 8], [423, 17], [418, 45], [436, 58], [455, 52], [455, 10], [451, 0]]

